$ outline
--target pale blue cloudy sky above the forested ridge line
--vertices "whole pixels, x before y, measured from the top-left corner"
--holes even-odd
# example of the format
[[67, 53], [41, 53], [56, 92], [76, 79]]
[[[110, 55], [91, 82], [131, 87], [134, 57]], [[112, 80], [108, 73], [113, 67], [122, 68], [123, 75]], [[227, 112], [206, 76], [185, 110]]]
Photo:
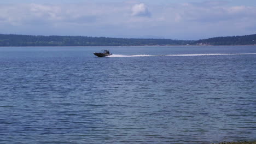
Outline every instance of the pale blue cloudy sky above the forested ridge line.
[[0, 33], [204, 39], [256, 33], [255, 0], [1, 0]]

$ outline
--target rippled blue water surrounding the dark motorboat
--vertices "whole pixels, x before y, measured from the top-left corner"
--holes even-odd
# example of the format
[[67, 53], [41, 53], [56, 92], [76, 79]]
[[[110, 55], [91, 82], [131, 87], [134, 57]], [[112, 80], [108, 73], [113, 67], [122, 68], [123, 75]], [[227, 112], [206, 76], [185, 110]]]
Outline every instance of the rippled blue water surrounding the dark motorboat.
[[0, 143], [256, 140], [256, 46], [0, 47], [0, 102]]

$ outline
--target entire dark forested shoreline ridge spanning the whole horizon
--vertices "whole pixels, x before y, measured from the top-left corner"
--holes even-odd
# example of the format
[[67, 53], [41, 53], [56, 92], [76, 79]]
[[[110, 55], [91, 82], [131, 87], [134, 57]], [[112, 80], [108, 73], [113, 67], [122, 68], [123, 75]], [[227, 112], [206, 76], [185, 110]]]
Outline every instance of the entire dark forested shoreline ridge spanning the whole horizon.
[[0, 34], [0, 46], [255, 45], [256, 34], [201, 40]]

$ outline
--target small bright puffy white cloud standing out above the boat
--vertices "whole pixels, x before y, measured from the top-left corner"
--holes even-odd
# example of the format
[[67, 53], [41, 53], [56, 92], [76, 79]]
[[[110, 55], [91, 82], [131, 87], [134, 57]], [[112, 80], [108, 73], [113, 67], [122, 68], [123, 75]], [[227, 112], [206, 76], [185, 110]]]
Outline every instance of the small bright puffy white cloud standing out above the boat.
[[151, 14], [144, 3], [135, 4], [132, 7], [132, 16], [146, 16], [150, 17]]

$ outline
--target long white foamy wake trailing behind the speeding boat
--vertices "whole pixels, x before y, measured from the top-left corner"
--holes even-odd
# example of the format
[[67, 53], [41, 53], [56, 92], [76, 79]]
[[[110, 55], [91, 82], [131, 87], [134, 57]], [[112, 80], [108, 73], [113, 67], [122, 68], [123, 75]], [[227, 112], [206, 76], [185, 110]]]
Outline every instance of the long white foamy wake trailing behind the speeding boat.
[[154, 56], [218, 56], [218, 55], [256, 55], [256, 53], [197, 53], [197, 54], [178, 54], [178, 55], [111, 55], [108, 57], [154, 57]]

